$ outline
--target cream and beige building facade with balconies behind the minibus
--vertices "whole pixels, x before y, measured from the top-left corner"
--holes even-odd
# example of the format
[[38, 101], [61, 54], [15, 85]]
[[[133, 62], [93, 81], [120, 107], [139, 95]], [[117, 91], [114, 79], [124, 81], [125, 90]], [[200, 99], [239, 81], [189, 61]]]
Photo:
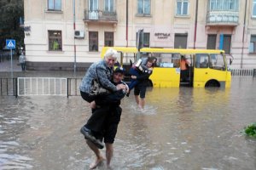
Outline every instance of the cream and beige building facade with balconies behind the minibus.
[[256, 68], [256, 0], [24, 0], [27, 68], [83, 70], [102, 47], [221, 48]]

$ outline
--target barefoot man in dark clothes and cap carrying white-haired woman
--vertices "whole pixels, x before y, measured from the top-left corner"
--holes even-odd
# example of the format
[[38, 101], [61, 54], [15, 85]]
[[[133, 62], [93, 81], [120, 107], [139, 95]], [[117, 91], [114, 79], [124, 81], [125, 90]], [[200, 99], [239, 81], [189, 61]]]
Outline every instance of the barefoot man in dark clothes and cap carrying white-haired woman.
[[[117, 68], [113, 73], [113, 83], [116, 85], [119, 83], [125, 83], [121, 81], [124, 78], [124, 73], [124, 71]], [[95, 117], [97, 119], [90, 119], [84, 126], [93, 129], [91, 130], [91, 133], [97, 140], [102, 141], [104, 139], [106, 146], [107, 167], [110, 166], [110, 161], [113, 157], [113, 142], [122, 113], [122, 109], [119, 106], [120, 99], [123, 99], [124, 97], [125, 93], [122, 89], [113, 94], [108, 94], [108, 97], [104, 100], [104, 104], [92, 109], [92, 115], [96, 115]], [[86, 139], [86, 136], [84, 138]], [[104, 160], [104, 158], [96, 144], [94, 144], [90, 139], [86, 139], [86, 143], [96, 155], [96, 160], [90, 164], [90, 169], [93, 169], [96, 168]]]

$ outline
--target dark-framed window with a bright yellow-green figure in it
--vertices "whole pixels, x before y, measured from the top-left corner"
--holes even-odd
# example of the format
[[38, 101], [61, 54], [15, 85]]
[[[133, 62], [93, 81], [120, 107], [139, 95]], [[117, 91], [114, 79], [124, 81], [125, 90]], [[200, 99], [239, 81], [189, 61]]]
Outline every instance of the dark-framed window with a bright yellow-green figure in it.
[[48, 31], [49, 51], [62, 50], [61, 31]]

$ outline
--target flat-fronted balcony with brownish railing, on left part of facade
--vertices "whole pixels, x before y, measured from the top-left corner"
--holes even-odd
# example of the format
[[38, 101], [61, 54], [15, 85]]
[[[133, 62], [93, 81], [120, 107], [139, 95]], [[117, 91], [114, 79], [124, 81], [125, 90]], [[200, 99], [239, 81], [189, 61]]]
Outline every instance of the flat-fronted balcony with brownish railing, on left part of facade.
[[116, 24], [118, 20], [116, 12], [107, 13], [102, 10], [84, 10], [84, 22], [104, 22]]

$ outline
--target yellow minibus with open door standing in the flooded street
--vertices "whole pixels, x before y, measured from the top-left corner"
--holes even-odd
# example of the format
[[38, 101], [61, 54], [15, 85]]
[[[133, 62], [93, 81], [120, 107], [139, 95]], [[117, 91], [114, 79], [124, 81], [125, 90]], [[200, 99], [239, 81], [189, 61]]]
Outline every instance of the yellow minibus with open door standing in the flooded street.
[[[231, 72], [223, 50], [182, 48], [122, 48], [111, 47], [119, 52], [119, 65], [123, 65], [129, 77], [129, 69], [138, 56], [157, 59], [153, 74], [149, 77], [153, 87], [230, 88]], [[102, 48], [102, 56], [108, 47]], [[186, 75], [181, 75], [182, 59], [187, 62]], [[231, 61], [230, 61], [231, 64]]]

